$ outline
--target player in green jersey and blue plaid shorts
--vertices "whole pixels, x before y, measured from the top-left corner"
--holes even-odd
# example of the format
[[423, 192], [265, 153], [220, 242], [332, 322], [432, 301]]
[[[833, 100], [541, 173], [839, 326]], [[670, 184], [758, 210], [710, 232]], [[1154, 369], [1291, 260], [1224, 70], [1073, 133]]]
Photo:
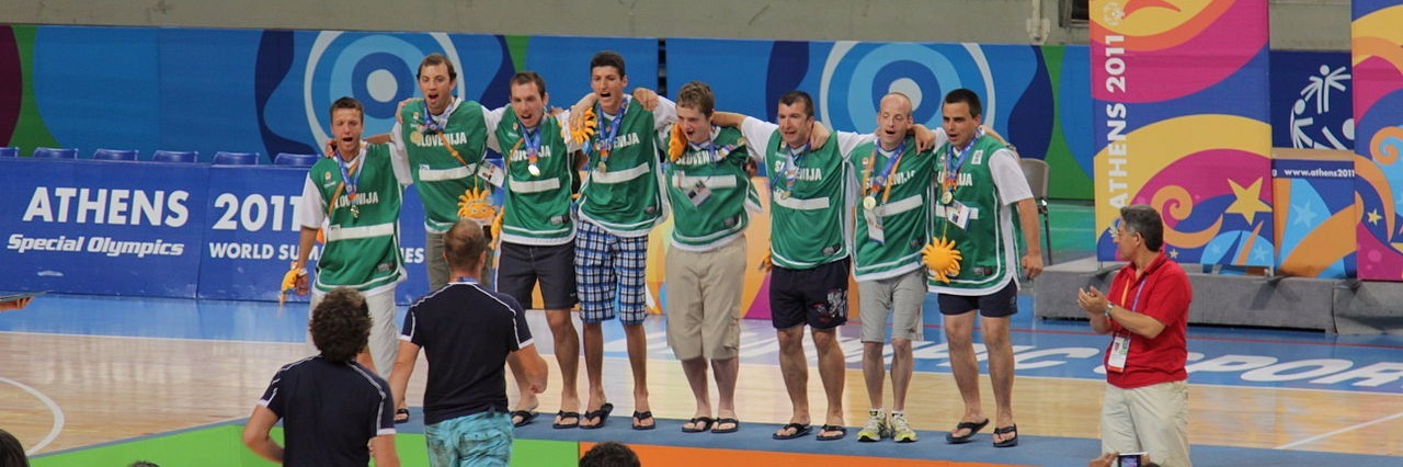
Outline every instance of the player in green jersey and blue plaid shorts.
[[584, 150], [586, 178], [579, 187], [579, 224], [575, 236], [575, 278], [584, 321], [585, 372], [589, 411], [579, 428], [600, 428], [613, 411], [603, 388], [603, 321], [613, 320], [615, 303], [623, 324], [633, 370], [636, 429], [655, 426], [648, 405], [647, 317], [648, 233], [665, 217], [655, 132], [676, 119], [672, 102], [652, 111], [626, 98], [629, 84], [623, 56], [599, 52], [589, 60], [598, 107], [598, 130]]

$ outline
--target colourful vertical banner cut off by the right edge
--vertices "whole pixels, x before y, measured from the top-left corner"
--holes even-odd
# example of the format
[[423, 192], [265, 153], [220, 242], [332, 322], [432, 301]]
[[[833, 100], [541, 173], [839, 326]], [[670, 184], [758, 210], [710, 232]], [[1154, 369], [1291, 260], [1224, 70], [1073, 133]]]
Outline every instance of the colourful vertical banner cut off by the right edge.
[[1403, 1], [1354, 0], [1360, 279], [1403, 280]]

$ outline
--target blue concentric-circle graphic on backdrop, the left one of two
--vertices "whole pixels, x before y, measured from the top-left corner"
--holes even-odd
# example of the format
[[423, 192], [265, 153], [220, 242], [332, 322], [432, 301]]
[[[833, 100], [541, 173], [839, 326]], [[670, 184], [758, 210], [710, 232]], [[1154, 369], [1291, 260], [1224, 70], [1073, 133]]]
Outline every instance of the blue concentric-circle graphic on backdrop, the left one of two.
[[[303, 104], [317, 142], [330, 139], [327, 109], [341, 97], [365, 107], [365, 128], [389, 129], [400, 101], [418, 95], [415, 79], [424, 56], [439, 52], [463, 63], [448, 34], [376, 34], [327, 31], [317, 35], [307, 56]], [[456, 95], [463, 98], [463, 74]]]

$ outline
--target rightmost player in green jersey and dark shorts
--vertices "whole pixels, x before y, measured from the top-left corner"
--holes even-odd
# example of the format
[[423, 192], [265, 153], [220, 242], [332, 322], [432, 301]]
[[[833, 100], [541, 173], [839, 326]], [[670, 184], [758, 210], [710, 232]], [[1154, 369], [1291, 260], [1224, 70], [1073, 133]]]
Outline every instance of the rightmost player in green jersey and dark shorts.
[[[954, 275], [941, 271], [932, 278], [929, 290], [939, 293], [951, 372], [965, 407], [946, 442], [967, 443], [989, 424], [979, 404], [979, 363], [972, 341], [974, 311], [978, 310], [996, 404], [993, 446], [1010, 447], [1019, 443], [1013, 424], [1013, 344], [1009, 341], [1009, 321], [1019, 311], [1016, 275], [1020, 266], [1028, 279], [1041, 273], [1042, 252], [1033, 192], [1013, 151], [979, 130], [982, 111], [974, 91], [960, 88], [946, 94], [943, 122], [950, 142], [937, 150], [932, 236], [954, 241], [962, 259]], [[1028, 248], [1021, 264], [1013, 206], [1017, 206]]]

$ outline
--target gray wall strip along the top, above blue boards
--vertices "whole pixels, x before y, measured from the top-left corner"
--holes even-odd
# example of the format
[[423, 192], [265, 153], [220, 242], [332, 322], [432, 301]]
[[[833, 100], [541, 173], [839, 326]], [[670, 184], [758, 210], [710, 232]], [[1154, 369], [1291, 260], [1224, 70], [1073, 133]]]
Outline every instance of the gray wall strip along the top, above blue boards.
[[[1070, 0], [1068, 0], [1070, 1]], [[1086, 1], [1086, 0], [1080, 0]], [[6, 0], [0, 21], [516, 35], [1086, 43], [1062, 0]], [[522, 14], [530, 11], [532, 14]], [[1094, 13], [1093, 13], [1094, 14]], [[1348, 0], [1271, 0], [1271, 48], [1347, 50]], [[1034, 21], [1034, 24], [1038, 24]], [[1035, 28], [1034, 28], [1035, 31]]]

